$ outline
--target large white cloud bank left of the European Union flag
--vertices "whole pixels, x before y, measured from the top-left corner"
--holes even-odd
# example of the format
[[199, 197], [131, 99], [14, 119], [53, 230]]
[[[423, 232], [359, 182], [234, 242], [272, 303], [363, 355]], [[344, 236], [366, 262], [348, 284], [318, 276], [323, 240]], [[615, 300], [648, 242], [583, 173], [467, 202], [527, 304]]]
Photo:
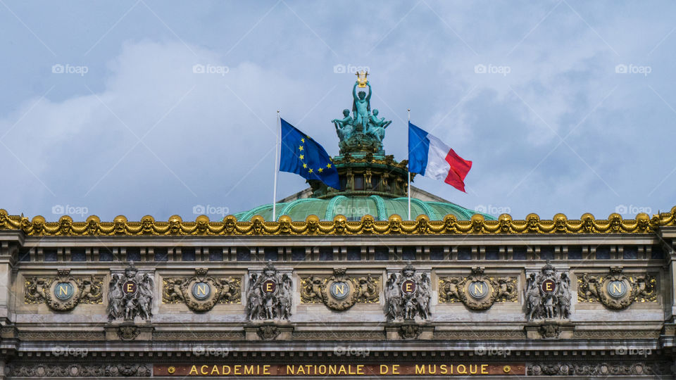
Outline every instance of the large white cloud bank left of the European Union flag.
[[[212, 51], [192, 50], [198, 56], [180, 43], [127, 43], [109, 65], [103, 91], [43, 99], [32, 109], [35, 99], [26, 101], [16, 113], [27, 113], [25, 118], [4, 143], [39, 180], [0, 150], [4, 175], [23, 178], [22, 193], [10, 203], [24, 205], [26, 213], [44, 213], [53, 204], [86, 205], [108, 218], [139, 218], [153, 198], [171, 205], [167, 213], [191, 218], [196, 215], [185, 210], [194, 204], [234, 212], [260, 203], [270, 187], [258, 179], [272, 172], [274, 110], [292, 108], [303, 86], [253, 63], [225, 75], [194, 73], [196, 63], [227, 62]], [[0, 131], [13, 122], [15, 116], [3, 120]]]

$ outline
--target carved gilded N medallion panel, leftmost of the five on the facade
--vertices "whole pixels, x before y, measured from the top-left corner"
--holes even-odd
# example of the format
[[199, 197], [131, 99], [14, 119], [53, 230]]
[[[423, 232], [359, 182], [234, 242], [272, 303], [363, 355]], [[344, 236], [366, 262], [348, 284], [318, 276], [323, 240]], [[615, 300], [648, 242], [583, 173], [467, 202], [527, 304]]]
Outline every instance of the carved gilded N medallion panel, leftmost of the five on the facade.
[[46, 303], [51, 310], [73, 310], [80, 303], [103, 302], [103, 277], [73, 277], [70, 270], [58, 270], [56, 277], [27, 277], [25, 303]]

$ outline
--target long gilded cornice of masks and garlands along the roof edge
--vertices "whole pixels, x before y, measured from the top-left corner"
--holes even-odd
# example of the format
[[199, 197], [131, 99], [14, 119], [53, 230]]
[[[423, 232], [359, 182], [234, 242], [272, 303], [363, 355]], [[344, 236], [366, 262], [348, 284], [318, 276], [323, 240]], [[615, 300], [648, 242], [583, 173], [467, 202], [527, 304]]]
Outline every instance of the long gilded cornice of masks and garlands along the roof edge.
[[[368, 220], [368, 222], [367, 222]], [[108, 235], [351, 235], [351, 234], [649, 234], [659, 227], [676, 225], [676, 206], [669, 213], [649, 217], [645, 213], [635, 220], [623, 220], [616, 213], [608, 220], [596, 220], [592, 214], [584, 214], [580, 220], [569, 220], [563, 214], [556, 214], [553, 220], [541, 220], [537, 214], [527, 215], [525, 220], [513, 220], [503, 214], [498, 220], [484, 220], [475, 214], [471, 220], [458, 220], [446, 215], [443, 220], [429, 220], [419, 215], [415, 221], [404, 221], [399, 215], [391, 215], [387, 221], [374, 221], [365, 215], [361, 222], [349, 222], [343, 215], [332, 221], [320, 221], [310, 215], [305, 222], [292, 222], [288, 215], [282, 215], [278, 222], [266, 222], [256, 215], [250, 221], [237, 221], [232, 215], [213, 222], [206, 215], [199, 215], [194, 222], [183, 222], [173, 215], [168, 222], [156, 222], [149, 215], [140, 222], [129, 222], [123, 215], [113, 222], [101, 222], [92, 215], [85, 222], [73, 222], [63, 215], [58, 222], [46, 222], [38, 215], [29, 220], [20, 215], [8, 215], [0, 209], [0, 229], [21, 230], [26, 235], [38, 236], [108, 236]]]

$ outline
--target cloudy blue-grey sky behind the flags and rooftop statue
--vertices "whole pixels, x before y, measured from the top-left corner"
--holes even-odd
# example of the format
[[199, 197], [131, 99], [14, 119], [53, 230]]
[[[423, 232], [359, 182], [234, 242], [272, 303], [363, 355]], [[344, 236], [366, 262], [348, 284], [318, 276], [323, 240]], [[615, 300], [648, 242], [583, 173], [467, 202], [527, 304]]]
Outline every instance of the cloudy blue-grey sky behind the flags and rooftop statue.
[[[338, 153], [368, 67], [406, 159], [411, 120], [473, 161], [468, 194], [522, 218], [676, 204], [676, 4], [0, 0], [0, 208], [212, 219], [270, 203], [276, 111]], [[201, 66], [195, 66], [201, 65]], [[195, 70], [194, 68], [198, 69]], [[204, 68], [201, 70], [201, 68]], [[279, 176], [278, 198], [306, 187]]]

